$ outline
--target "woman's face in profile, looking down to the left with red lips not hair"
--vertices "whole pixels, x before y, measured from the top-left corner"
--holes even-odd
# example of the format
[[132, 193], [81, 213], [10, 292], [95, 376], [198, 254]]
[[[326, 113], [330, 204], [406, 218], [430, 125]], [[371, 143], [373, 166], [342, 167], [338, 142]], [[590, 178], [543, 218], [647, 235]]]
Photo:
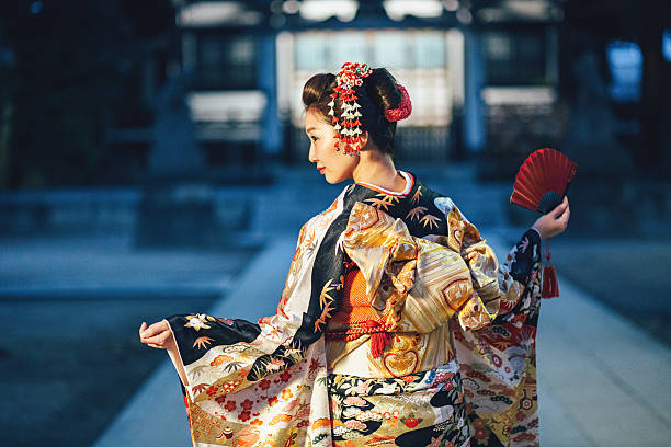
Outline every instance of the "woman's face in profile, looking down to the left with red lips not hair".
[[342, 146], [336, 150], [336, 129], [323, 121], [319, 112], [308, 110], [305, 114], [305, 131], [310, 139], [308, 159], [329, 183], [340, 183], [352, 179], [354, 168], [359, 164], [359, 154], [344, 153]]

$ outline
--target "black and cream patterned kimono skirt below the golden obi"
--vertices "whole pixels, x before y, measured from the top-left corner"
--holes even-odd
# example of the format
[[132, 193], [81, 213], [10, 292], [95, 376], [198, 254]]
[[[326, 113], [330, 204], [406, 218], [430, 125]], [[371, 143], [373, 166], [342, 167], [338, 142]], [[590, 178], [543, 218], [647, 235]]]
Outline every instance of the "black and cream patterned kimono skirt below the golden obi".
[[470, 437], [454, 363], [396, 379], [329, 375], [329, 394], [334, 446], [463, 446]]

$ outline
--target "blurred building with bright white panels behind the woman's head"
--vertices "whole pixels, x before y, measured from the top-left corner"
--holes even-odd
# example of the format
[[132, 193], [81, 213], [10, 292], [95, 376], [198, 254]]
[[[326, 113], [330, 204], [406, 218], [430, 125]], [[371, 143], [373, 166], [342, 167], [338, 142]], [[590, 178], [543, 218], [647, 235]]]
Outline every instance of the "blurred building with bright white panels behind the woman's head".
[[[195, 73], [189, 101], [198, 139], [215, 163], [254, 154], [302, 160], [303, 83], [361, 60], [389, 68], [411, 92], [413, 115], [400, 124], [397, 158], [480, 152], [510, 127], [511, 111], [551, 115], [557, 99], [560, 7], [499, 3], [183, 2], [181, 61]], [[536, 134], [558, 129], [537, 127]], [[509, 150], [499, 144], [492, 151]]]

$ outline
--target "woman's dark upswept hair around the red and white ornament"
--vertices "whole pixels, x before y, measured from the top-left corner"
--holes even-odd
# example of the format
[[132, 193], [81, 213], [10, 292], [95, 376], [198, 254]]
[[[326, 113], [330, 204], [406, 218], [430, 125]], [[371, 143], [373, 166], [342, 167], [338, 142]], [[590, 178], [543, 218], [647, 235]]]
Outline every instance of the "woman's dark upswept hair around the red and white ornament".
[[[306, 111], [315, 111], [329, 119], [329, 102], [336, 88], [336, 74], [320, 73], [311, 77], [303, 87], [303, 104]], [[387, 108], [396, 108], [400, 104], [402, 94], [396, 87], [396, 79], [386, 68], [375, 68], [372, 74], [363, 78], [363, 85], [355, 87], [354, 92], [361, 105], [361, 128], [368, 131], [368, 137], [377, 148], [388, 154], [394, 153], [394, 136], [396, 122], [385, 118]], [[341, 110], [342, 102], [336, 100], [334, 111]], [[336, 112], [338, 113], [338, 112]]]

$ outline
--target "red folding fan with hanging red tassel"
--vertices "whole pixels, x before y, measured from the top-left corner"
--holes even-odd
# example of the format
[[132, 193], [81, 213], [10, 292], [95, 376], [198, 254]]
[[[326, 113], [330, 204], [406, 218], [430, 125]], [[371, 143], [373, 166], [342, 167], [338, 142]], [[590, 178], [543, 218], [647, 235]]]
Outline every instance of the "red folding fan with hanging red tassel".
[[[564, 200], [578, 165], [558, 150], [538, 149], [520, 167], [510, 202], [524, 208], [546, 214]], [[546, 264], [543, 270], [543, 298], [559, 296], [557, 274], [550, 265], [550, 252], [545, 240]]]

